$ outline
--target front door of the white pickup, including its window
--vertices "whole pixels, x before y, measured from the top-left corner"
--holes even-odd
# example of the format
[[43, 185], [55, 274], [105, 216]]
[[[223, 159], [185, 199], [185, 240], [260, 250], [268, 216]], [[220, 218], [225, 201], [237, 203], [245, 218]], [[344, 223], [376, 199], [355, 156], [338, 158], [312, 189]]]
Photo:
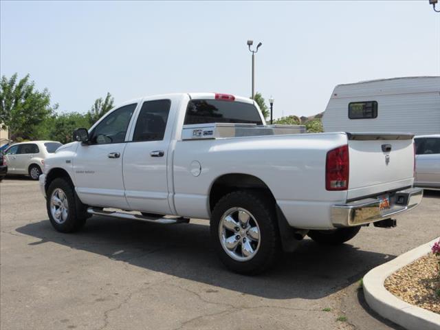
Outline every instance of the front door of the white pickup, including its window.
[[76, 192], [91, 206], [128, 209], [122, 180], [125, 137], [137, 103], [111, 111], [89, 133], [89, 144], [80, 144], [74, 159]]

